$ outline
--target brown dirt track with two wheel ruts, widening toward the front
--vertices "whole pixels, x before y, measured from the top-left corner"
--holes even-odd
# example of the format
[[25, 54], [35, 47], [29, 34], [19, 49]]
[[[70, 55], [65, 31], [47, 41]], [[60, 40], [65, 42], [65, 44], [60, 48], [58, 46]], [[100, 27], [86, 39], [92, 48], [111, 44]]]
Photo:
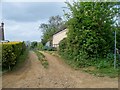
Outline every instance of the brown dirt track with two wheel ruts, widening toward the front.
[[118, 80], [95, 77], [76, 71], [59, 58], [44, 53], [49, 62], [45, 69], [34, 52], [18, 71], [3, 75], [3, 88], [117, 88]]

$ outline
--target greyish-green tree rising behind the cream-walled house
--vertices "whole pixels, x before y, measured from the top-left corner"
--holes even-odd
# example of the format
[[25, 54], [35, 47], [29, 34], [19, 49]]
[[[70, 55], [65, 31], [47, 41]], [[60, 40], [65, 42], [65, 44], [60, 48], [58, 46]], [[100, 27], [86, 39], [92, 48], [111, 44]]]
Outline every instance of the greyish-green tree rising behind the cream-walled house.
[[42, 23], [40, 25], [40, 29], [43, 32], [42, 41], [41, 41], [42, 44], [45, 45], [47, 41], [51, 41], [52, 35], [55, 32], [59, 31], [63, 25], [64, 22], [59, 15], [50, 17], [47, 24]]

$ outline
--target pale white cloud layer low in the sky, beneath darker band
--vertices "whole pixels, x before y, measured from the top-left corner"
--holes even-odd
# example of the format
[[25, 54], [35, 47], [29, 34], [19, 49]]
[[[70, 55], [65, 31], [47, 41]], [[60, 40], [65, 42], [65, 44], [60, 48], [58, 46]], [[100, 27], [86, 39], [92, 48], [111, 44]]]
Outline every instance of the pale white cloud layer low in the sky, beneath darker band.
[[5, 39], [10, 41], [40, 41], [42, 35], [41, 31], [38, 30], [40, 23], [42, 22], [18, 23], [5, 20]]

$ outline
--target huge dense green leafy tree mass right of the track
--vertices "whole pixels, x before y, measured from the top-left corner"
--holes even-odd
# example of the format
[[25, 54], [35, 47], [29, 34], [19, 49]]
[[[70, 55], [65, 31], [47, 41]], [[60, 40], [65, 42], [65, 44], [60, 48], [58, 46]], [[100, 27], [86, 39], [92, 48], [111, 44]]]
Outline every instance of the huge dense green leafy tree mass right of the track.
[[[114, 17], [118, 13], [116, 5], [119, 3], [66, 2], [66, 4], [70, 10], [66, 14], [69, 31], [66, 40], [60, 43], [60, 53], [73, 60], [78, 67], [90, 66], [93, 63], [99, 63], [99, 68], [109, 66], [109, 61], [105, 61], [104, 58], [109, 53], [113, 54], [113, 32], [118, 29], [114, 26], [116, 22]], [[118, 45], [117, 47], [119, 48]]]

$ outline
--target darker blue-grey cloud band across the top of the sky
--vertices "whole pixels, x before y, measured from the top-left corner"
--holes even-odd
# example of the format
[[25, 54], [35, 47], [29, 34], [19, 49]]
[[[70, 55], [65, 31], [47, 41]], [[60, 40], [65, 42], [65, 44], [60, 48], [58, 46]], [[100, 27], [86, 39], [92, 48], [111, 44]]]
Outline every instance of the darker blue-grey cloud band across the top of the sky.
[[6, 2], [3, 3], [3, 18], [20, 22], [31, 22], [49, 18], [50, 16], [62, 16], [64, 3], [56, 2]]

